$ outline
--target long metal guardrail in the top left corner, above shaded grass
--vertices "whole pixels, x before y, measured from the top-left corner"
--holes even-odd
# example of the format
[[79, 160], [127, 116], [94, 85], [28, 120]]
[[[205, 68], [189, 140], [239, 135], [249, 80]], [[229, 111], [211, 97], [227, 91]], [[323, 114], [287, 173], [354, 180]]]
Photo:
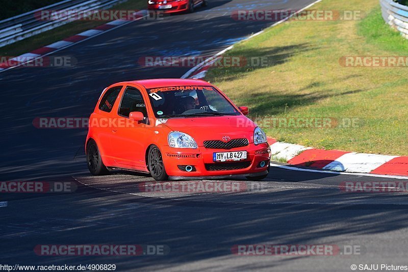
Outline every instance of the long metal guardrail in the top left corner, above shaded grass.
[[0, 47], [72, 22], [72, 20], [39, 20], [36, 15], [42, 10], [74, 10], [78, 12], [72, 13], [70, 16], [76, 18], [78, 17], [78, 14], [81, 14], [81, 11], [106, 9], [125, 1], [126, 0], [64, 0], [53, 5], [2, 20], [0, 21]]

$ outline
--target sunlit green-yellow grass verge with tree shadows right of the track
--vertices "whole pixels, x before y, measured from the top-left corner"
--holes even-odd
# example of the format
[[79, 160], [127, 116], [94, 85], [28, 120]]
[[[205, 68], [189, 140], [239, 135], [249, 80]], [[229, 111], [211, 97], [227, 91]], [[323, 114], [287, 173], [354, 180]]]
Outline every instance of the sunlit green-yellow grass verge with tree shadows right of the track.
[[[346, 128], [261, 125], [278, 141], [325, 149], [408, 155], [408, 67], [343, 67], [345, 56], [407, 56], [408, 41], [377, 0], [324, 0], [313, 10], [353, 10], [353, 21], [288, 21], [237, 44], [226, 56], [268, 57], [266, 67], [214, 68], [206, 77], [254, 118], [350, 118]], [[241, 22], [245, 23], [245, 22]]]

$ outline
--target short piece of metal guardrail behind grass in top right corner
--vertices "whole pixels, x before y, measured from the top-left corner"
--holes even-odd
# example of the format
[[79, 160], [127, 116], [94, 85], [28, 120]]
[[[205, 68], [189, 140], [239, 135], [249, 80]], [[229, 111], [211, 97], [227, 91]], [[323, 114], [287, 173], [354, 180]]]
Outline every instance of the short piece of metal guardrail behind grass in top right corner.
[[408, 39], [408, 7], [392, 0], [379, 0], [382, 18]]

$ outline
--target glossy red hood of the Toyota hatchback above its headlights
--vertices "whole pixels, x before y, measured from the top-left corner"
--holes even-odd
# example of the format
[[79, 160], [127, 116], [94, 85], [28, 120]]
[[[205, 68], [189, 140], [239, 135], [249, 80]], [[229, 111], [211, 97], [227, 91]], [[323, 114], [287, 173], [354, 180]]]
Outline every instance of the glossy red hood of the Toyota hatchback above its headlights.
[[194, 138], [198, 146], [207, 140], [246, 138], [253, 143], [253, 130], [256, 124], [245, 116], [214, 116], [172, 118], [163, 120], [164, 125], [174, 131], [181, 131]]

